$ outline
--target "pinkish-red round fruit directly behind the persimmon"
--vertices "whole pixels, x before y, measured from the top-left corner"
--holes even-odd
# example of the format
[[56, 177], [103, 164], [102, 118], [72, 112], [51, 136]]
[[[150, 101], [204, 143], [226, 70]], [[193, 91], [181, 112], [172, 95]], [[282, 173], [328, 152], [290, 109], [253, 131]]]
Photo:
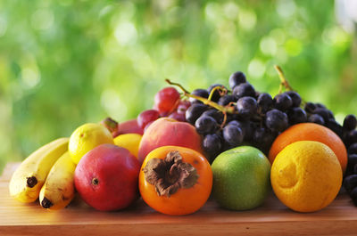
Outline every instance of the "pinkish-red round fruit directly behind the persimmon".
[[173, 118], [158, 118], [146, 130], [139, 145], [138, 159], [143, 163], [146, 155], [156, 148], [173, 145], [202, 151], [202, 138], [195, 126]]

